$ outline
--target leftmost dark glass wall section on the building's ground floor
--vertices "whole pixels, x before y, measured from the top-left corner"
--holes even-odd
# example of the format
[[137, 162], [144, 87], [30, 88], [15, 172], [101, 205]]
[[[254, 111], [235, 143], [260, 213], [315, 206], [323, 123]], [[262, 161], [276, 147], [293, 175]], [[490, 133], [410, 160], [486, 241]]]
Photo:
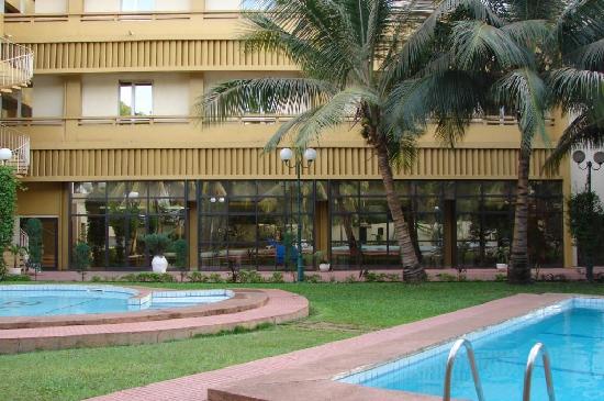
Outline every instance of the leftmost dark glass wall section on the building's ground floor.
[[96, 268], [145, 269], [153, 257], [145, 234], [187, 240], [187, 192], [184, 181], [72, 183], [71, 249], [87, 242]]

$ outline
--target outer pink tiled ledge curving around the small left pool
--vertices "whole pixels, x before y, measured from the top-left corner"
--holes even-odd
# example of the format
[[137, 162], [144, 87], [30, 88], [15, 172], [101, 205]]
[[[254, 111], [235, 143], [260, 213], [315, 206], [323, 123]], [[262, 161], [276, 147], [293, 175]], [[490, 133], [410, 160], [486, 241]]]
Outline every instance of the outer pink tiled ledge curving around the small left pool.
[[[265, 323], [283, 323], [309, 315], [309, 301], [281, 290], [239, 290], [260, 303], [257, 308], [201, 316], [180, 316], [141, 322], [83, 324], [12, 328], [0, 331], [0, 354], [33, 350], [101, 347], [111, 345], [153, 344], [216, 334], [243, 326], [254, 328]], [[233, 300], [239, 302], [239, 300]], [[228, 302], [228, 301], [224, 301]], [[234, 305], [233, 308], [237, 308]], [[164, 316], [165, 318], [165, 316]]]

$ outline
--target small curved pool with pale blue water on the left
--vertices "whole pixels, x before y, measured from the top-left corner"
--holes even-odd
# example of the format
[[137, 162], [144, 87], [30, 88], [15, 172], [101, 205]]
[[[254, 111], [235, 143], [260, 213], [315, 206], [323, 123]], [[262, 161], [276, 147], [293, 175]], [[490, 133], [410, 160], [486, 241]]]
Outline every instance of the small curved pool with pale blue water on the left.
[[134, 312], [227, 300], [227, 290], [150, 291], [118, 286], [0, 286], [0, 318]]

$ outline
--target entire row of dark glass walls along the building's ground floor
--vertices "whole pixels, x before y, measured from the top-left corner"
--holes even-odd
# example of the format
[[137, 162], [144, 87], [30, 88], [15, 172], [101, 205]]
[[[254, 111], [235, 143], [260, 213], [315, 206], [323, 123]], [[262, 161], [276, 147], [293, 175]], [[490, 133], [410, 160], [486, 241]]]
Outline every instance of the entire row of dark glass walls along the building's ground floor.
[[[514, 181], [405, 180], [395, 189], [424, 266], [493, 267], [508, 254]], [[295, 268], [295, 181], [76, 182], [70, 202], [71, 247], [86, 241], [97, 268], [147, 268], [152, 255], [141, 241], [147, 233], [188, 241], [204, 270]], [[530, 182], [532, 265], [562, 265], [562, 204], [561, 181]], [[194, 244], [189, 218], [197, 223]], [[303, 181], [301, 224], [307, 267], [316, 250], [336, 268], [400, 266], [379, 180]]]

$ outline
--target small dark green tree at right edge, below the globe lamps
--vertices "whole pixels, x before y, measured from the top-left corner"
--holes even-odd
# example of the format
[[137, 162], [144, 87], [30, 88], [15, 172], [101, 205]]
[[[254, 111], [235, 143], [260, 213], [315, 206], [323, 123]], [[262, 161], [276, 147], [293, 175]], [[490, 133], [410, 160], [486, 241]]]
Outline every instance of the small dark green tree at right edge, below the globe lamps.
[[568, 201], [569, 225], [579, 253], [586, 264], [586, 278], [593, 281], [593, 265], [604, 246], [604, 208], [596, 193], [581, 192]]

